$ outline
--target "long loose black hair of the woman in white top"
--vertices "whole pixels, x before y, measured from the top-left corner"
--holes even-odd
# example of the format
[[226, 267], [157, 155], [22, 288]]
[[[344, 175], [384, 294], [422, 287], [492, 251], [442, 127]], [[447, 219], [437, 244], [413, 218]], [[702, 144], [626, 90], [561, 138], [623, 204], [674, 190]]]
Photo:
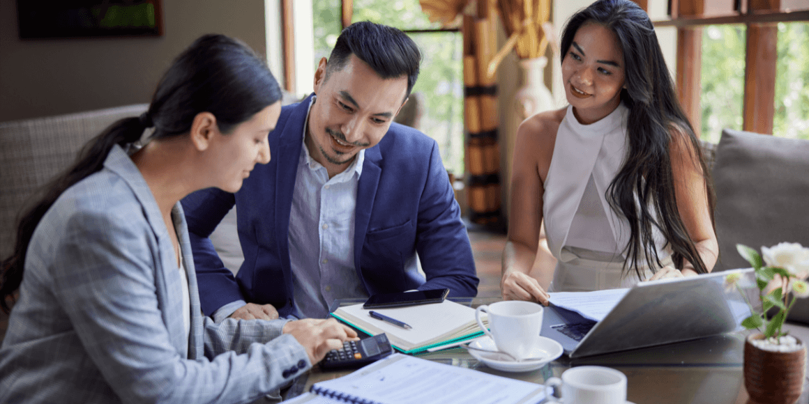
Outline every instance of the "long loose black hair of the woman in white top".
[[[638, 263], [641, 259], [661, 266], [654, 245], [654, 228], [660, 230], [671, 246], [671, 258], [677, 268], [681, 269], [683, 260], [687, 259], [697, 273], [705, 273], [708, 269], [677, 209], [670, 154], [671, 142], [676, 140], [672, 136], [688, 137], [693, 164], [701, 166], [705, 178], [712, 225], [714, 190], [700, 142], [677, 100], [649, 15], [630, 0], [592, 3], [570, 17], [565, 25], [561, 37], [562, 60], [584, 23], [598, 23], [615, 32], [624, 52], [625, 88], [621, 90], [621, 101], [629, 108], [629, 150], [606, 192], [612, 209], [629, 221], [625, 273], [635, 271], [640, 278]], [[654, 209], [654, 215], [650, 208]], [[650, 267], [655, 271], [654, 265]]]

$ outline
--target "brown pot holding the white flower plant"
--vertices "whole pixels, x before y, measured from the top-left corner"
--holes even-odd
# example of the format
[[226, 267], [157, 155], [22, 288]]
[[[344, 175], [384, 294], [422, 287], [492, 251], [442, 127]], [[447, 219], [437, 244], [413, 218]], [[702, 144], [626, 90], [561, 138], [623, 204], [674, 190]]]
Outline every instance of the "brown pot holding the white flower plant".
[[750, 341], [763, 335], [748, 335], [744, 342], [744, 387], [752, 402], [794, 404], [803, 389], [807, 347], [791, 352], [765, 351]]

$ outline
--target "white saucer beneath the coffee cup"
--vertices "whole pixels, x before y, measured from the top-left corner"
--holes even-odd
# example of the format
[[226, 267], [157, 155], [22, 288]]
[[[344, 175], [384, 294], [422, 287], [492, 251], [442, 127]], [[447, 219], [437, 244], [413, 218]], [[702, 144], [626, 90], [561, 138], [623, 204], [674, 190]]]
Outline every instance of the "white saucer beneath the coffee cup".
[[[494, 341], [489, 336], [483, 336], [479, 339], [469, 343], [470, 347], [485, 349], [487, 351], [497, 351], [498, 347], [494, 345]], [[489, 368], [502, 370], [503, 372], [530, 372], [543, 367], [551, 360], [557, 359], [562, 354], [562, 347], [553, 339], [540, 336], [540, 340], [536, 346], [531, 350], [532, 357], [541, 357], [537, 360], [523, 360], [522, 362], [515, 362], [509, 356], [499, 352], [482, 352], [469, 350], [469, 355], [480, 360]]]

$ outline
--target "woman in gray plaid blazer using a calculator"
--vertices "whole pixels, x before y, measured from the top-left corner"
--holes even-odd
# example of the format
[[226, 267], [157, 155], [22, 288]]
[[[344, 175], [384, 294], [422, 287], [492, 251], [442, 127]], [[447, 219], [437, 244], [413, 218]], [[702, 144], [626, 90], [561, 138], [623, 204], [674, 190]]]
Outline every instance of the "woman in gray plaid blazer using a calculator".
[[[146, 113], [112, 124], [50, 184], [2, 263], [0, 306], [19, 298], [0, 402], [251, 402], [356, 339], [334, 320], [201, 315], [179, 200], [238, 191], [269, 162], [280, 99], [247, 45], [203, 36]], [[150, 141], [132, 147], [146, 128]]]

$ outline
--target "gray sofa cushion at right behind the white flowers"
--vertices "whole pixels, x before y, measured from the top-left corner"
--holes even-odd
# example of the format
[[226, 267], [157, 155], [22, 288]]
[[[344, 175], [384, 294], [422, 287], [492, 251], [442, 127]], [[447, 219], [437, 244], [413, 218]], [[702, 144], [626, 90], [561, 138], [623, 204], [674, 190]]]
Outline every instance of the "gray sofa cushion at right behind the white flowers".
[[[809, 141], [722, 131], [714, 163], [719, 262], [714, 271], [750, 267], [736, 244], [809, 246]], [[802, 299], [790, 319], [809, 322]]]

